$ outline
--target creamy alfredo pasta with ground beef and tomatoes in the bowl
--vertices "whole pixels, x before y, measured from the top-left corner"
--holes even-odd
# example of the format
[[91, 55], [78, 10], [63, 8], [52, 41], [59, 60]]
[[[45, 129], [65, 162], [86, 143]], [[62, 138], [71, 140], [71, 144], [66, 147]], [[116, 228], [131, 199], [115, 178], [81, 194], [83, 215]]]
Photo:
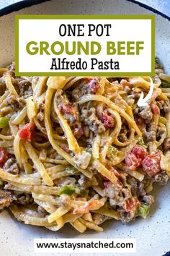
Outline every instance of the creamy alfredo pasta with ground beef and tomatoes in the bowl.
[[[147, 106], [138, 107], [151, 82]], [[146, 218], [170, 176], [170, 77], [16, 77], [0, 69], [0, 210], [58, 231]]]

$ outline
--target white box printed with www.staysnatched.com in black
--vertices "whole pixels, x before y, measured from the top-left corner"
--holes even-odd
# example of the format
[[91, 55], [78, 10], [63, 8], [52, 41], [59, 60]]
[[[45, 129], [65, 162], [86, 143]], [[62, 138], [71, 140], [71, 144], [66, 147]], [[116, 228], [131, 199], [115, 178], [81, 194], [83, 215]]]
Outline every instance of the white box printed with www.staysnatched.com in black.
[[135, 239], [35, 239], [35, 252], [136, 252]]

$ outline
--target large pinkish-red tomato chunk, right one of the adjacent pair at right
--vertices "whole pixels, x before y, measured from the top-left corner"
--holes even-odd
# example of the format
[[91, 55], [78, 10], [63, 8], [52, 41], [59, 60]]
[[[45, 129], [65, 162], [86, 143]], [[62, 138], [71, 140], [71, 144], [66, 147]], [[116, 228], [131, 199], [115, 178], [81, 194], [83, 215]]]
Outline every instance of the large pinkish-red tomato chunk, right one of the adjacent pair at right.
[[145, 159], [142, 161], [143, 171], [148, 174], [148, 176], [154, 176], [161, 171], [161, 154], [151, 154], [147, 155]]

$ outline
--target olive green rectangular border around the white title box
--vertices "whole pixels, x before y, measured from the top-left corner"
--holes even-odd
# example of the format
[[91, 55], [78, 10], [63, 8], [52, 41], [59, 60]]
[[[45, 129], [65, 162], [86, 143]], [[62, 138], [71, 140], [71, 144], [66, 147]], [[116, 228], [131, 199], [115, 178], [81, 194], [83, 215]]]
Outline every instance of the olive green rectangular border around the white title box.
[[[19, 20], [151, 20], [151, 72], [19, 72]], [[155, 74], [155, 15], [53, 15], [53, 14], [22, 14], [15, 16], [15, 61], [17, 76], [66, 76], [66, 75], [102, 75], [102, 76], [153, 76]]]

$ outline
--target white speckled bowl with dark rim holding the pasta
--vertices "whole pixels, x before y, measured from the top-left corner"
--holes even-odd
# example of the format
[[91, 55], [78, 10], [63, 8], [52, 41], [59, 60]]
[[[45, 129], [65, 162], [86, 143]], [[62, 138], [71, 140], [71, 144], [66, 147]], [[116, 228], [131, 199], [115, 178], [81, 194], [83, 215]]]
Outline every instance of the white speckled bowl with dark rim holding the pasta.
[[[170, 74], [170, 19], [166, 15], [143, 4], [136, 4], [133, 0], [52, 0], [34, 5], [35, 2], [38, 1], [24, 1], [0, 10], [1, 15], [6, 14], [0, 18], [0, 67], [14, 60], [15, 14], [155, 14], [156, 56]], [[23, 6], [27, 8], [22, 8]], [[16, 12], [12, 12], [14, 9]], [[47, 231], [19, 223], [4, 211], [0, 214], [0, 255], [33, 255], [34, 238], [136, 238], [136, 255], [164, 255], [170, 250], [170, 184], [157, 187], [153, 194], [155, 202], [146, 220], [138, 219], [127, 225], [120, 221], [107, 221], [102, 233], [86, 231], [85, 234], [79, 234], [70, 225], [58, 232]]]

